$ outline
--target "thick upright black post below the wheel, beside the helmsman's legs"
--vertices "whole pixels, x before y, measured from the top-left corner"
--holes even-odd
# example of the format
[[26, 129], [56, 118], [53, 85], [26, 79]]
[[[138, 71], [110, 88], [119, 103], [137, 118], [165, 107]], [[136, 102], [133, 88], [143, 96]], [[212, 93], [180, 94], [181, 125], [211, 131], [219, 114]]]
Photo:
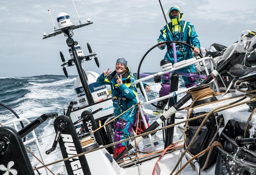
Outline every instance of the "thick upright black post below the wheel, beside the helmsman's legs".
[[[179, 85], [179, 74], [177, 72], [173, 72], [171, 74], [171, 81], [170, 81], [170, 93], [177, 91]], [[177, 102], [177, 96], [173, 96], [169, 98], [168, 101], [168, 108], [172, 107]], [[166, 125], [174, 124], [175, 122], [175, 113], [172, 114], [167, 120]], [[173, 133], [174, 133], [174, 127], [167, 128], [165, 130], [165, 142], [164, 142], [164, 149], [167, 148], [170, 144], [173, 142]]]

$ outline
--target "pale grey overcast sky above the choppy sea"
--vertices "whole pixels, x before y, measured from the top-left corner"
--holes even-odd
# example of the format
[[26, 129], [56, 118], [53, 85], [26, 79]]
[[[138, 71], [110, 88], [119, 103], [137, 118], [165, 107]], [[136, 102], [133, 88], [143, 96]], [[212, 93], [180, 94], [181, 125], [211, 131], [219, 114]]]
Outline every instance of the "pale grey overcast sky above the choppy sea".
[[[229, 46], [246, 29], [256, 31], [255, 0], [161, 2], [165, 14], [172, 5], [180, 7], [183, 20], [194, 24], [201, 47], [206, 49], [212, 43]], [[74, 30], [73, 38], [85, 55], [89, 54], [89, 42], [100, 62], [100, 68], [94, 60], [84, 62], [85, 70], [113, 70], [116, 59], [124, 57], [132, 71], [137, 72], [140, 59], [156, 44], [165, 25], [157, 0], [86, 0], [75, 4], [82, 23], [90, 18], [93, 24]], [[54, 30], [48, 9], [56, 26], [60, 12], [68, 13], [73, 24], [79, 24], [72, 0], [0, 0], [0, 77], [64, 75], [59, 52], [66, 61], [70, 59], [66, 37], [60, 34], [42, 40], [44, 32]], [[165, 51], [156, 48], [149, 53], [141, 72], [159, 72]], [[77, 75], [75, 66], [67, 70], [69, 75]]]

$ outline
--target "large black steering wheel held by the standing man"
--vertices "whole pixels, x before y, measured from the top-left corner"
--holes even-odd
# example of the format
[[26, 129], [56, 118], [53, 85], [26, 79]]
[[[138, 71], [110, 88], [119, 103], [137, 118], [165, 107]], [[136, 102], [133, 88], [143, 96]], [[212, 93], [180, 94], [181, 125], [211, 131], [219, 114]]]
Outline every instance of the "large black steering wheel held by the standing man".
[[[180, 42], [180, 41], [164, 41], [164, 42], [162, 42], [162, 43], [156, 44], [155, 46], [151, 47], [151, 48], [145, 53], [145, 55], [141, 58], [140, 64], [139, 64], [139, 67], [138, 67], [138, 71], [137, 71], [137, 80], [140, 79], [140, 66], [141, 66], [141, 64], [142, 64], [142, 62], [143, 62], [143, 60], [144, 60], [144, 58], [148, 55], [148, 53], [149, 53], [151, 50], [153, 50], [155, 47], [159, 46], [159, 45], [162, 45], [162, 44], [169, 44], [169, 43], [179, 43], [179, 44], [182, 44], [182, 45], [186, 45], [186, 46], [190, 47], [192, 50], [194, 50], [194, 48], [193, 48], [192, 46], [190, 46], [189, 44], [184, 43], [184, 42]], [[199, 56], [200, 56], [201, 58], [203, 58], [203, 56], [202, 56], [201, 53], [199, 53]], [[142, 87], [140, 86], [140, 83], [138, 83], [138, 84], [139, 84], [140, 92], [142, 93], [143, 97], [145, 98], [145, 96], [144, 96], [144, 94], [143, 94], [143, 92], [142, 92], [142, 89], [141, 89]], [[151, 105], [157, 107], [154, 103], [151, 103]]]

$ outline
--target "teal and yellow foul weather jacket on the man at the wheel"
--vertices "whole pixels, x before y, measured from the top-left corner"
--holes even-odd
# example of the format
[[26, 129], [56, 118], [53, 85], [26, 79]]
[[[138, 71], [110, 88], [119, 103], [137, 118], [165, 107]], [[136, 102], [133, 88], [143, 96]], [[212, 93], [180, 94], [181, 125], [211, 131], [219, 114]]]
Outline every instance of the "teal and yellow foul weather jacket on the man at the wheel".
[[[192, 47], [200, 48], [200, 42], [198, 39], [198, 35], [196, 34], [194, 25], [188, 21], [180, 21], [176, 25], [172, 25], [172, 22], [165, 25], [161, 30], [161, 34], [157, 40], [159, 41], [181, 41], [185, 42]], [[159, 47], [160, 49], [164, 49], [166, 44], [163, 47]], [[177, 54], [177, 62], [187, 60], [193, 57], [191, 48], [186, 45], [181, 45], [176, 43], [176, 54]], [[170, 44], [167, 45], [167, 52], [164, 56], [165, 59], [170, 60], [172, 64], [174, 63], [173, 59], [173, 51]]]

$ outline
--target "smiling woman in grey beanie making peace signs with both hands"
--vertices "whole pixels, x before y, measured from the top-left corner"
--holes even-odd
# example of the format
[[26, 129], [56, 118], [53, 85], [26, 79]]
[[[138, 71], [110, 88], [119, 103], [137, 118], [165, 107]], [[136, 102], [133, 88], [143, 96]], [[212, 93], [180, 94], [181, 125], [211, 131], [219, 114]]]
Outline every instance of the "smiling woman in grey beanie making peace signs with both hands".
[[[119, 58], [116, 61], [116, 70], [111, 72], [112, 71], [109, 71], [109, 68], [108, 70], [105, 70], [98, 77], [97, 83], [108, 84], [111, 86], [114, 115], [118, 116], [137, 103], [135, 99], [137, 96], [137, 89], [136, 84], [133, 84], [135, 79], [129, 67], [127, 67], [127, 61], [124, 58]], [[149, 91], [150, 88], [147, 84], [144, 84], [144, 87], [146, 91]], [[133, 122], [136, 112], [137, 106], [134, 106], [115, 120], [115, 142], [124, 140], [129, 136], [132, 127], [136, 125], [136, 122]], [[125, 142], [116, 144], [113, 157], [115, 158], [124, 149]]]

